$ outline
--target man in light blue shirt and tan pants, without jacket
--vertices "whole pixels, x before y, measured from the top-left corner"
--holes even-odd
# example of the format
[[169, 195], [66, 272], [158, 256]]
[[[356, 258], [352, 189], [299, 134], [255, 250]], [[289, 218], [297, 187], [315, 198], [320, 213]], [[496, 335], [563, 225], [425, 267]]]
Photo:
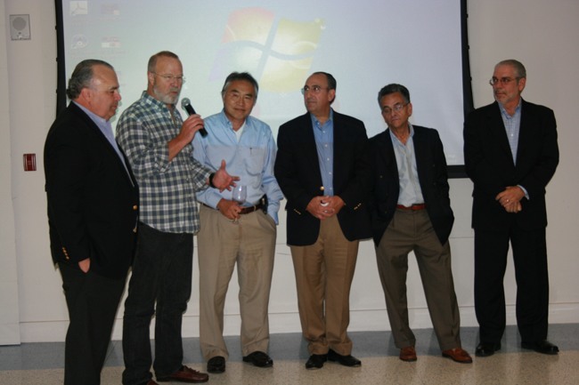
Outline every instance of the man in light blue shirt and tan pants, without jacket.
[[224, 301], [237, 263], [243, 361], [270, 367], [267, 309], [273, 273], [278, 211], [283, 197], [273, 177], [276, 146], [269, 125], [249, 116], [258, 85], [247, 72], [233, 72], [221, 92], [224, 109], [204, 119], [206, 137], [195, 135], [193, 156], [213, 167], [225, 160], [246, 186], [244, 202], [231, 191], [208, 188], [201, 203], [200, 347], [209, 373], [223, 373], [228, 357], [223, 338]]

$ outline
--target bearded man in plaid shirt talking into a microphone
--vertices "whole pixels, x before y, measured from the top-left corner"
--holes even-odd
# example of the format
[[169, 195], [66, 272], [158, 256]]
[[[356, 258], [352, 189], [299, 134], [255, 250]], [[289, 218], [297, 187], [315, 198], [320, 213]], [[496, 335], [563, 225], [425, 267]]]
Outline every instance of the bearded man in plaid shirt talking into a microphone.
[[[215, 171], [193, 159], [191, 141], [203, 127], [199, 115], [183, 121], [175, 103], [183, 66], [173, 52], [149, 60], [147, 91], [126, 108], [117, 127], [141, 186], [139, 237], [123, 322], [125, 385], [153, 385], [149, 325], [155, 314], [157, 381], [208, 381], [183, 365], [181, 324], [192, 290], [193, 234], [200, 229], [195, 192], [232, 184], [224, 162]], [[156, 307], [155, 307], [156, 303]]]

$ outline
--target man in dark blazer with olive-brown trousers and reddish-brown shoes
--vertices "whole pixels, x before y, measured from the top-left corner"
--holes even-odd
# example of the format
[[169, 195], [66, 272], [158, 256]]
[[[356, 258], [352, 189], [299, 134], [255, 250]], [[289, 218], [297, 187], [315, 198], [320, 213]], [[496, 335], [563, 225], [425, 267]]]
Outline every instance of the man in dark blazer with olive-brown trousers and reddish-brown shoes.
[[443, 144], [436, 130], [408, 122], [412, 103], [404, 85], [383, 87], [378, 103], [388, 129], [370, 140], [375, 180], [372, 235], [399, 357], [417, 359], [406, 301], [408, 253], [414, 252], [443, 356], [471, 363], [469, 353], [461, 349], [461, 318], [448, 242], [454, 216]]

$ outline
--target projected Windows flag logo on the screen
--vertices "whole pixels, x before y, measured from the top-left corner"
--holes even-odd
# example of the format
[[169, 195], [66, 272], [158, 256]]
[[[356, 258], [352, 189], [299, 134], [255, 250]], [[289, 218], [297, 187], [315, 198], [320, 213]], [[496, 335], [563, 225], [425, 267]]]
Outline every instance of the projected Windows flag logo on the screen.
[[323, 20], [276, 20], [273, 12], [263, 8], [232, 12], [211, 79], [247, 70], [259, 79], [262, 90], [295, 91], [309, 75], [323, 29]]

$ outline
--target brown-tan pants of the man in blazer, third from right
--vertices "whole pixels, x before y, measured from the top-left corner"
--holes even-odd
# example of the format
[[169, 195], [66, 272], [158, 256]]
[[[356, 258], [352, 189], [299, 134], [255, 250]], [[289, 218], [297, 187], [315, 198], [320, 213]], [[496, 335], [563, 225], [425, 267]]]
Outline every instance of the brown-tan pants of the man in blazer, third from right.
[[350, 286], [358, 241], [348, 241], [338, 218], [333, 216], [322, 221], [314, 245], [290, 248], [298, 286], [299, 320], [310, 354], [326, 354], [333, 349], [349, 355]]

